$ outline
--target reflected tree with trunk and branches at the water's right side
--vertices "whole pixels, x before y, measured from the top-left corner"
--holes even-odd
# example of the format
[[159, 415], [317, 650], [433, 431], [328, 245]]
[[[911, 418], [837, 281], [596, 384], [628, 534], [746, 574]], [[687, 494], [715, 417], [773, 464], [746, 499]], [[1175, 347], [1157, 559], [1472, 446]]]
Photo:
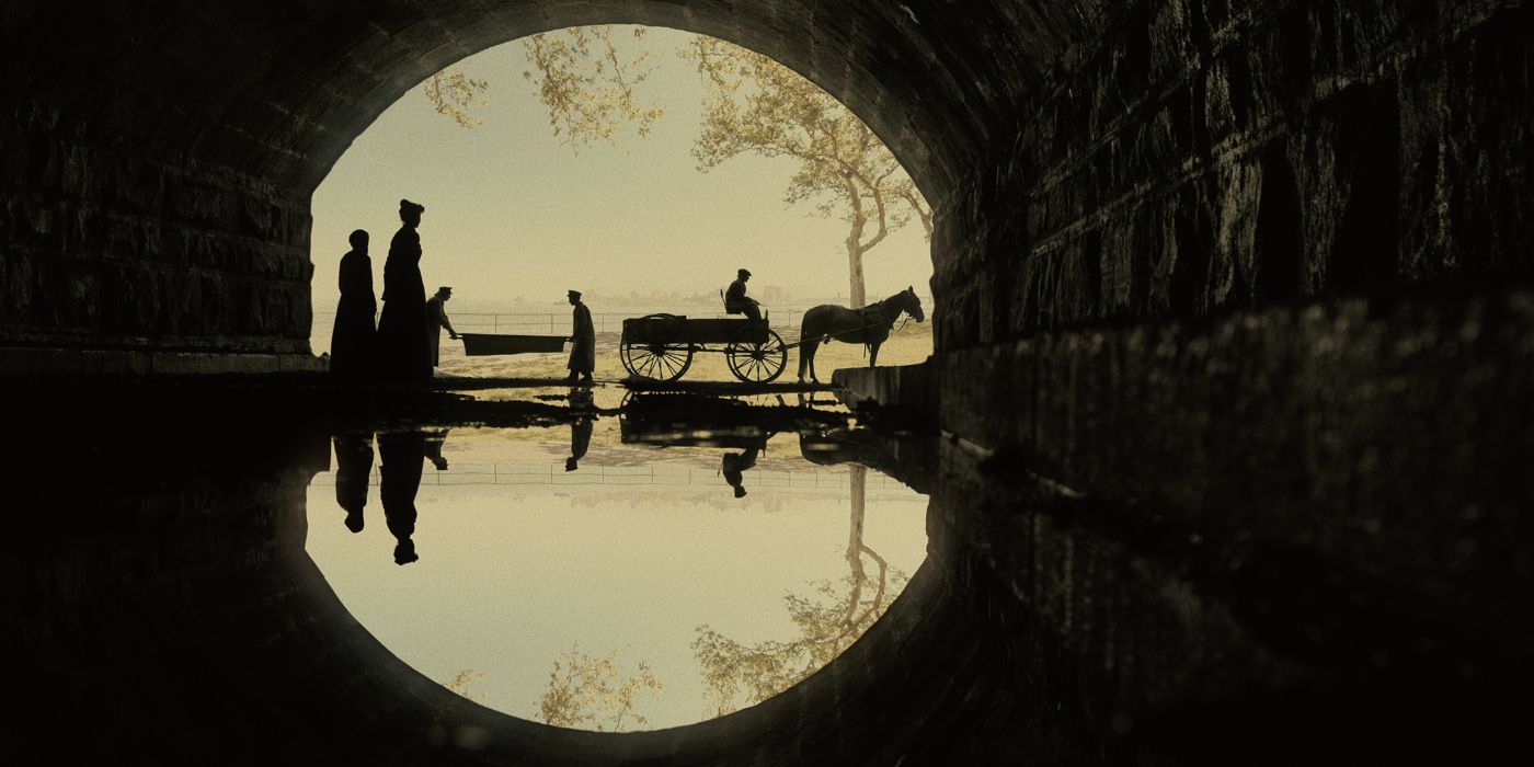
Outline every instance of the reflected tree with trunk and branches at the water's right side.
[[[703, 666], [704, 698], [713, 715], [772, 698], [830, 663], [884, 615], [890, 594], [905, 586], [905, 574], [891, 571], [884, 557], [862, 542], [867, 476], [867, 468], [851, 466], [847, 577], [839, 584], [811, 583], [808, 595], [784, 595], [798, 638], [741, 644], [707, 624], [698, 626], [692, 649]], [[876, 578], [868, 577], [864, 557], [876, 565]]]

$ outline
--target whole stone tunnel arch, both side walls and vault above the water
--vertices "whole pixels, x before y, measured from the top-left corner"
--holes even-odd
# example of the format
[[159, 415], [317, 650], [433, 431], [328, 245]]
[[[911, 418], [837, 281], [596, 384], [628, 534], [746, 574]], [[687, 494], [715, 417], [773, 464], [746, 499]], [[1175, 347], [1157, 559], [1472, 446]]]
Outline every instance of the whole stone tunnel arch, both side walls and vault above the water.
[[[8, 2], [0, 370], [304, 364], [308, 195], [351, 137], [446, 63], [586, 23], [741, 43], [887, 141], [940, 218], [934, 407], [969, 445], [1209, 549], [1296, 548], [1440, 597], [1439, 563], [1522, 572], [1526, 592], [1526, 568], [1499, 569], [1528, 561], [1534, 443], [1505, 417], [1526, 411], [1534, 325], [1519, 0]], [[1269, 178], [1282, 207], [1259, 227], [1276, 158], [1293, 183]], [[1304, 249], [1256, 241], [1293, 225]], [[1232, 275], [1261, 282], [1264, 247], [1287, 261], [1253, 308]], [[1427, 290], [1364, 301], [1381, 282]], [[1434, 528], [1468, 509], [1503, 548], [1465, 558]], [[965, 575], [1026, 572], [965, 561], [971, 601]], [[1063, 568], [999, 598], [1058, 600], [1029, 620], [1071, 643], [1089, 572]], [[1534, 624], [1526, 600], [1494, 607], [1442, 617]]]

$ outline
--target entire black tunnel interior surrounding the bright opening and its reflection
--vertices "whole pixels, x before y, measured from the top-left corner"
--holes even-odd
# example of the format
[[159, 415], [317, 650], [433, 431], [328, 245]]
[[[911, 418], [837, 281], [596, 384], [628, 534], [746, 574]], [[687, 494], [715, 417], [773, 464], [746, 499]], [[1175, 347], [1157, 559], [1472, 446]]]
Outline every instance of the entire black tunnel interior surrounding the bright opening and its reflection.
[[[8, 730], [64, 762], [1523, 764], [1531, 15], [8, 0]], [[433, 72], [592, 23], [779, 60], [936, 219], [933, 356], [836, 374], [885, 423], [851, 462], [930, 497], [925, 565], [788, 692], [637, 733], [454, 695], [304, 548], [339, 430], [575, 417], [328, 382], [310, 196]]]

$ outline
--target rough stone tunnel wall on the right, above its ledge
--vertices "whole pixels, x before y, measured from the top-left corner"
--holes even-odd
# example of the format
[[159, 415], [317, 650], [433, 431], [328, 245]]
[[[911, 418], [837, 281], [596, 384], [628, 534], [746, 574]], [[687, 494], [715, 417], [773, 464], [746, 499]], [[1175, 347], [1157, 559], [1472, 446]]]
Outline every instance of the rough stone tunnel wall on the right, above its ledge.
[[936, 238], [939, 345], [1526, 279], [1519, 2], [1137, 2]]

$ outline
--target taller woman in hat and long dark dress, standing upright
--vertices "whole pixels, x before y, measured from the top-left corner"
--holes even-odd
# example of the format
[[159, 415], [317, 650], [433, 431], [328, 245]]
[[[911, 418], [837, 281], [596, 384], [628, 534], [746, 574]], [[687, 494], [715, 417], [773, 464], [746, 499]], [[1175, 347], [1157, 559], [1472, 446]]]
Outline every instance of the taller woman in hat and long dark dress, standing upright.
[[399, 201], [399, 232], [384, 262], [384, 313], [379, 316], [379, 364], [385, 374], [431, 377], [426, 350], [426, 285], [420, 279], [420, 215], [425, 206]]

